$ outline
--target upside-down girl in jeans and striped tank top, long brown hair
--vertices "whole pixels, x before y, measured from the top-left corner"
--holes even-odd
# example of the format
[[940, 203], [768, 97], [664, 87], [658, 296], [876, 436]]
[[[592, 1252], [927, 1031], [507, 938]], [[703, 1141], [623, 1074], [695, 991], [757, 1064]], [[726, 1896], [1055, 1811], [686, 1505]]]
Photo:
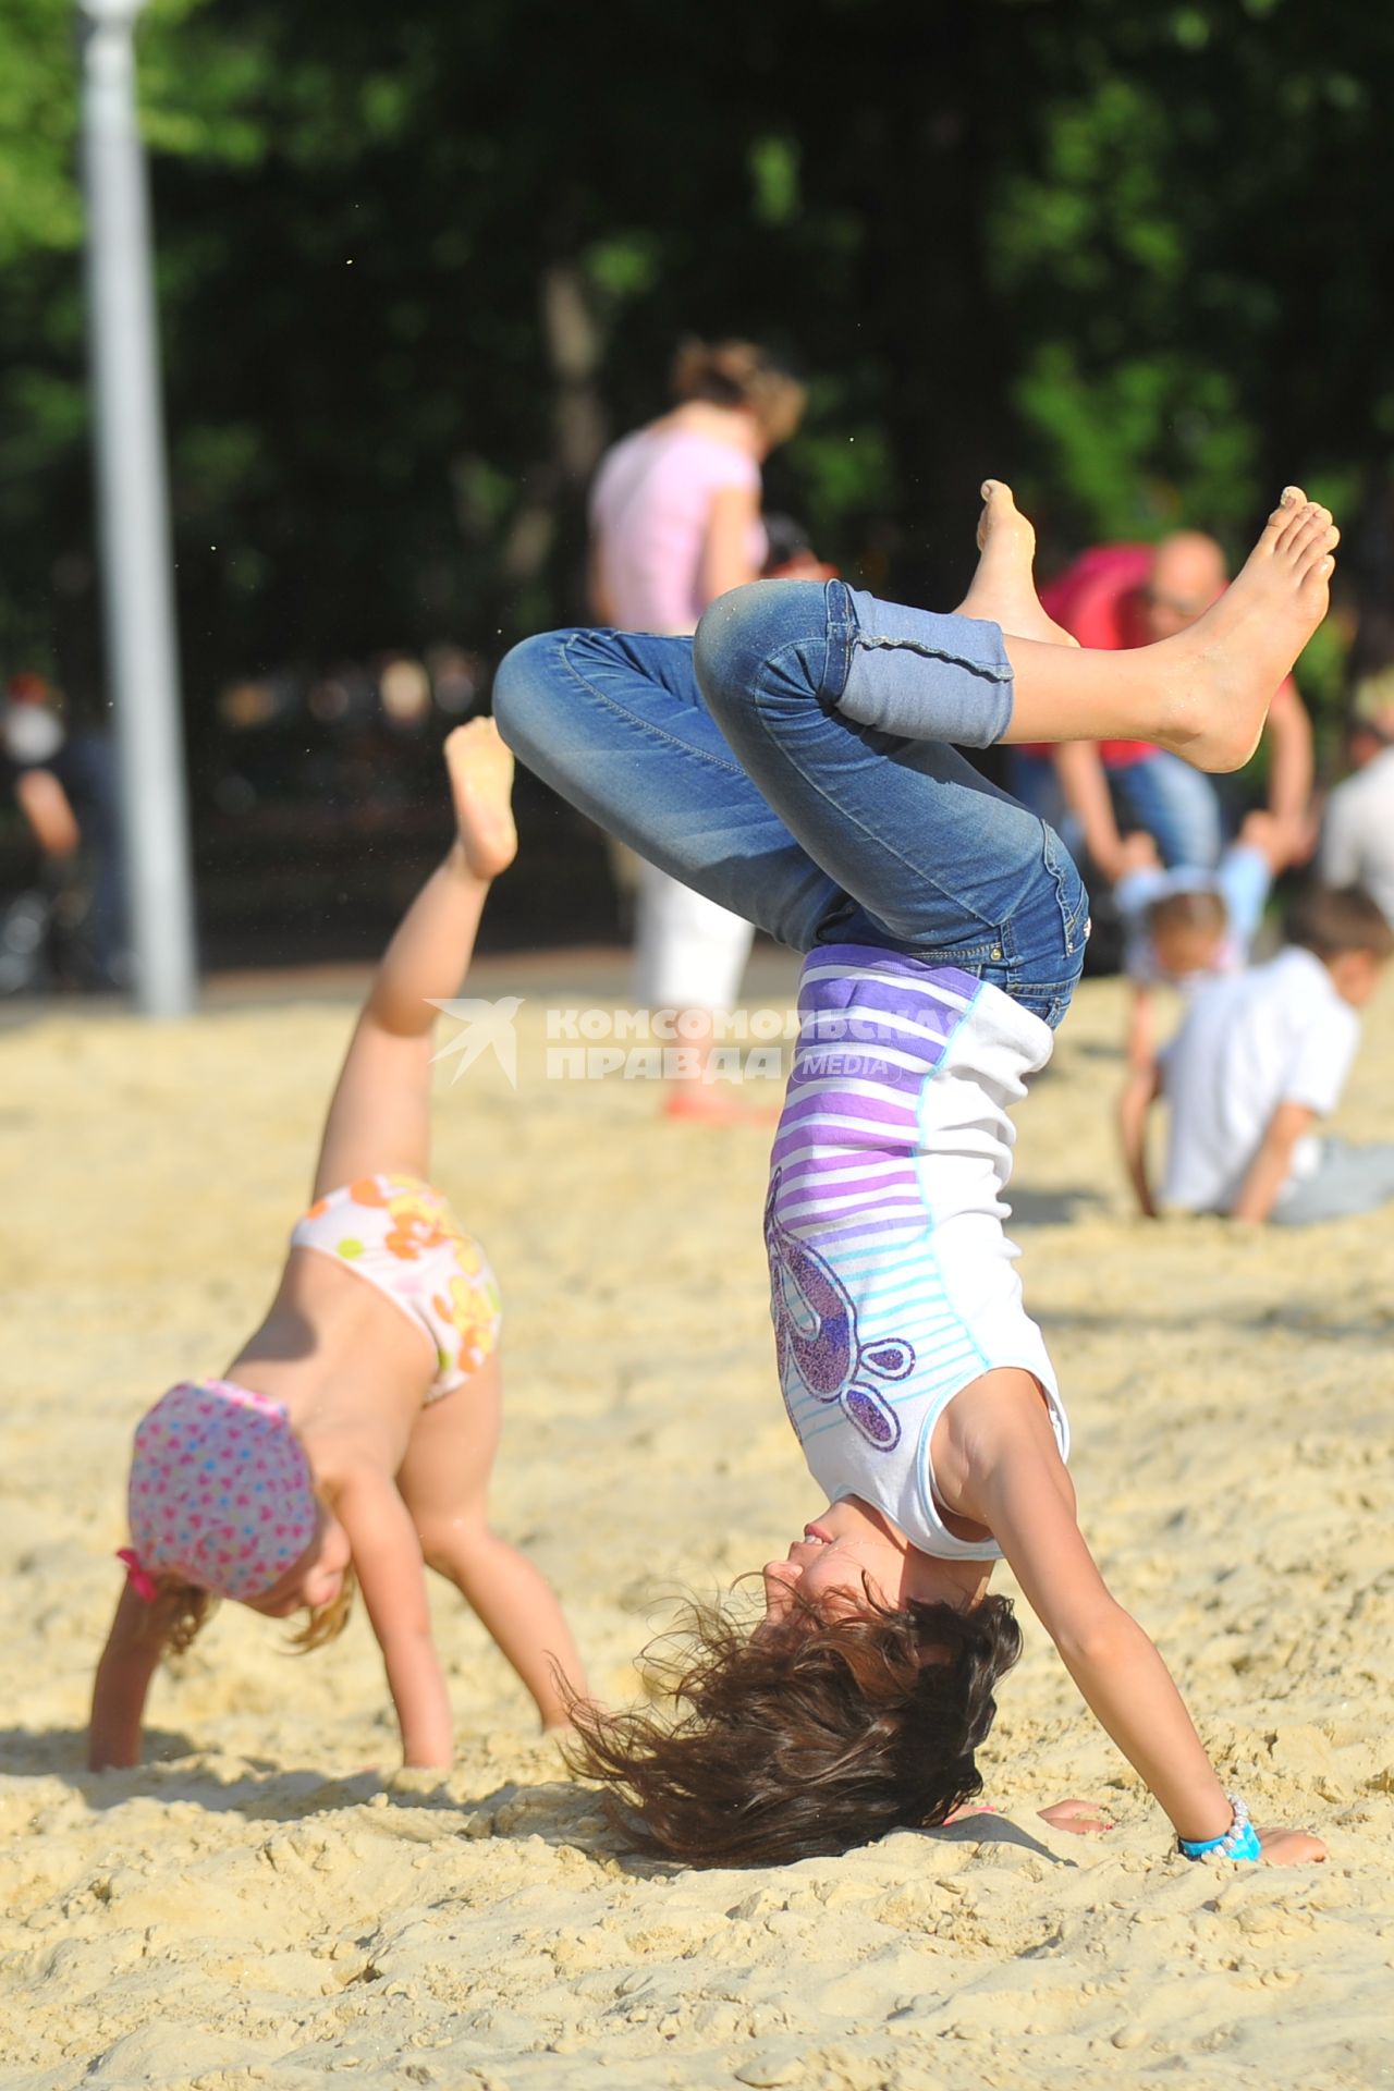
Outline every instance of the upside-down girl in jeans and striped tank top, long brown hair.
[[[1035, 592], [989, 481], [955, 615], [757, 581], [696, 640], [554, 631], [504, 661], [504, 738], [629, 847], [805, 953], [765, 1242], [780, 1382], [819, 1508], [746, 1633], [702, 1614], [677, 1719], [577, 1706], [635, 1840], [696, 1865], [943, 1823], [1020, 1631], [1005, 1556], [1189, 1857], [1323, 1857], [1248, 1821], [1081, 1537], [1070, 1432], [1003, 1234], [1009, 1106], [1089, 930], [1078, 874], [953, 744], [1135, 736], [1235, 767], [1325, 615], [1335, 529], [1287, 489], [1187, 631], [1087, 652]], [[694, 1359], [692, 1397], [700, 1399]]]

